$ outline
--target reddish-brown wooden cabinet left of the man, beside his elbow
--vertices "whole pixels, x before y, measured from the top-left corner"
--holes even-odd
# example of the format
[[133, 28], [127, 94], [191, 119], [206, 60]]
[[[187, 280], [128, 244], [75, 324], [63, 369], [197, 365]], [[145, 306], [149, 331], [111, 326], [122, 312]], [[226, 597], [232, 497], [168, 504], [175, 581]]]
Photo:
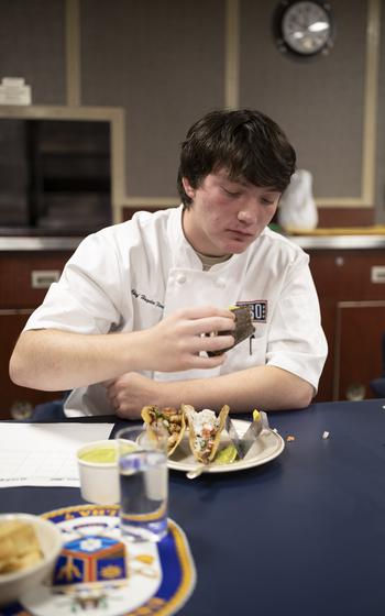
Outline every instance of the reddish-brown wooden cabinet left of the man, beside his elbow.
[[9, 377], [9, 360], [26, 319], [38, 306], [51, 282], [59, 276], [70, 256], [67, 251], [0, 252], [0, 419], [11, 418], [11, 409], [34, 407], [62, 395], [14, 385]]

